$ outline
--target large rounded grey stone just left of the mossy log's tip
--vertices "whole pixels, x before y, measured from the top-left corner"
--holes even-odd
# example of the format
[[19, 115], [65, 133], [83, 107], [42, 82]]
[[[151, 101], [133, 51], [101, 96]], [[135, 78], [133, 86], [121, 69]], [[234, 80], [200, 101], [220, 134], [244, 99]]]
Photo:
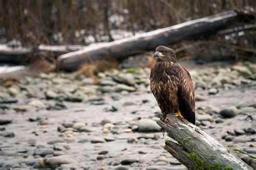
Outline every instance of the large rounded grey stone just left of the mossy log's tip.
[[152, 119], [139, 120], [139, 132], [159, 132], [161, 127]]

